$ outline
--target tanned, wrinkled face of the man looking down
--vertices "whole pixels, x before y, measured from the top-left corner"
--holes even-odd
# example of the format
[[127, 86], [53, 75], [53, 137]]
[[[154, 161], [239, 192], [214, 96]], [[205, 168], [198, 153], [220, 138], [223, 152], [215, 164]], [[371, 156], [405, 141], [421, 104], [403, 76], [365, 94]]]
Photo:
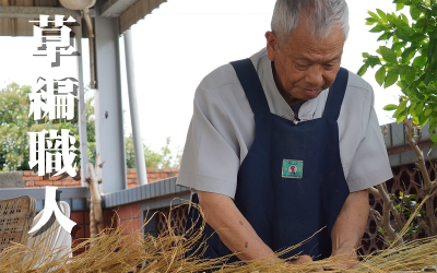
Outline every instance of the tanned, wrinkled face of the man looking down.
[[265, 33], [265, 38], [269, 59], [274, 62], [274, 81], [290, 105], [315, 98], [332, 85], [344, 46], [340, 26], [333, 27], [324, 40], [314, 38], [305, 24], [299, 24], [281, 46], [273, 33]]

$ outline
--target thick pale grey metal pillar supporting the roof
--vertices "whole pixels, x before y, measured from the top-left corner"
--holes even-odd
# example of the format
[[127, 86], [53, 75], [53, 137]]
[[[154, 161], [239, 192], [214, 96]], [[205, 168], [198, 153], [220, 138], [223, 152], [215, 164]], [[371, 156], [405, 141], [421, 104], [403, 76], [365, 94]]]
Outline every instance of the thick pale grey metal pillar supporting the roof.
[[[98, 0], [95, 10], [99, 11]], [[96, 149], [105, 165], [102, 169], [103, 192], [127, 189], [125, 135], [122, 126], [119, 59], [119, 23], [117, 17], [95, 16], [95, 91]]]

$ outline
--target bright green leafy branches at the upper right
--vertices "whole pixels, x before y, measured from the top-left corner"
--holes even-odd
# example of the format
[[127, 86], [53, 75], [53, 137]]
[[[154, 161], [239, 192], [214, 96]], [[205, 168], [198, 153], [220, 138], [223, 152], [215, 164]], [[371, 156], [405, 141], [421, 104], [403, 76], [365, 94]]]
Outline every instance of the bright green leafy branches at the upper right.
[[[363, 54], [364, 64], [357, 72], [363, 75], [369, 67], [380, 66], [376, 81], [383, 87], [397, 84], [403, 95], [399, 105], [387, 105], [395, 110], [398, 123], [411, 116], [418, 127], [429, 122], [429, 133], [437, 127], [437, 3], [436, 0], [394, 0], [397, 11], [405, 14], [386, 13], [379, 9], [369, 11], [367, 25], [370, 32], [382, 33], [378, 40], [386, 41], [377, 55]], [[390, 41], [390, 43], [389, 43]], [[437, 134], [432, 135], [434, 146]], [[434, 147], [433, 146], [433, 147]]]

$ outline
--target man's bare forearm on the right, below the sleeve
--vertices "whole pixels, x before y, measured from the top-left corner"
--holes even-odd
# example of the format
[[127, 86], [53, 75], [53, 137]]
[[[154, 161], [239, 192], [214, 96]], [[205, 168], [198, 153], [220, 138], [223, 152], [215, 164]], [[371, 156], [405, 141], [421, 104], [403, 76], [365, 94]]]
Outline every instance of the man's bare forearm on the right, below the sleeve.
[[350, 193], [331, 232], [332, 254], [343, 254], [358, 247], [368, 213], [367, 190]]

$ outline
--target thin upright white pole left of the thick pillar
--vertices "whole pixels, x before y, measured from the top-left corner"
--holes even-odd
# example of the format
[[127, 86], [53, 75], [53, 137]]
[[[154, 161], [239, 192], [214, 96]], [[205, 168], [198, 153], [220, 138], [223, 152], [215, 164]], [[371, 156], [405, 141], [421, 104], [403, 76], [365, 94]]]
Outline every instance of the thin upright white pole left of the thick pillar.
[[[83, 90], [83, 67], [82, 67], [82, 17], [76, 16], [76, 22], [81, 24], [75, 27], [75, 45], [78, 51], [81, 56], [78, 57], [78, 81], [79, 81], [79, 104], [78, 104], [78, 122], [79, 122], [79, 142], [81, 143], [80, 152], [81, 152], [81, 185], [86, 186], [86, 164], [88, 163], [88, 154], [87, 154], [87, 138], [86, 138], [86, 115], [84, 114], [85, 104], [84, 104], [84, 90]], [[83, 114], [83, 115], [82, 115]]]

